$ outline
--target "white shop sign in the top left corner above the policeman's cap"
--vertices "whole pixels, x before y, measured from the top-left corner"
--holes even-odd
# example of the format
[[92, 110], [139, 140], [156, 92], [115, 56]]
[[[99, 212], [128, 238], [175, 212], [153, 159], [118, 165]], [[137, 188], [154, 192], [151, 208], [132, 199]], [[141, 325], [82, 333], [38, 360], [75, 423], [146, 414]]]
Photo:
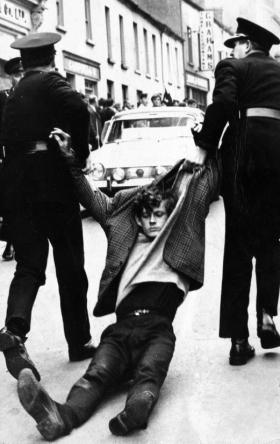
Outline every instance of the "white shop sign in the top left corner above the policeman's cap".
[[29, 10], [9, 0], [0, 0], [0, 18], [26, 29], [31, 28]]

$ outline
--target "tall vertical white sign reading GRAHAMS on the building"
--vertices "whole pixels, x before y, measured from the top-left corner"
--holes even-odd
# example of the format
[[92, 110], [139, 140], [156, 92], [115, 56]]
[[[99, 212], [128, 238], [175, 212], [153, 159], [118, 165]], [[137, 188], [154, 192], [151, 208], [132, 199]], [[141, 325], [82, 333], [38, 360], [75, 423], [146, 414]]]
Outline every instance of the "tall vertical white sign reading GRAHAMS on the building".
[[201, 71], [214, 69], [214, 12], [200, 11]]

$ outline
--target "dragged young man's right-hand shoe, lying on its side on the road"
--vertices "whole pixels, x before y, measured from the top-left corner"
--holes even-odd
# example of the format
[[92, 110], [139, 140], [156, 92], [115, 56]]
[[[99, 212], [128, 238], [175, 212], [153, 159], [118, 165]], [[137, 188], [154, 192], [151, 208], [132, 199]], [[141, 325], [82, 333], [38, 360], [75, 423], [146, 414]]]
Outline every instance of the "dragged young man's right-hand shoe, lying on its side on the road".
[[145, 429], [154, 399], [154, 395], [148, 391], [136, 395], [122, 412], [110, 420], [110, 432], [116, 436], [125, 436], [135, 430]]

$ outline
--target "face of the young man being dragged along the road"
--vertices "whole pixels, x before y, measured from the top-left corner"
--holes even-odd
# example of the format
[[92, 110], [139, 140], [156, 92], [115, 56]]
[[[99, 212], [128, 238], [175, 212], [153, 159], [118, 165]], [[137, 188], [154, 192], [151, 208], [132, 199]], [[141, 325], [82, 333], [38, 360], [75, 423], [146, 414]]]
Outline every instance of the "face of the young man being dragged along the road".
[[142, 215], [140, 217], [136, 216], [137, 224], [142, 228], [145, 236], [151, 240], [157, 237], [167, 219], [165, 200], [161, 202], [159, 207], [153, 208], [151, 212], [143, 208]]

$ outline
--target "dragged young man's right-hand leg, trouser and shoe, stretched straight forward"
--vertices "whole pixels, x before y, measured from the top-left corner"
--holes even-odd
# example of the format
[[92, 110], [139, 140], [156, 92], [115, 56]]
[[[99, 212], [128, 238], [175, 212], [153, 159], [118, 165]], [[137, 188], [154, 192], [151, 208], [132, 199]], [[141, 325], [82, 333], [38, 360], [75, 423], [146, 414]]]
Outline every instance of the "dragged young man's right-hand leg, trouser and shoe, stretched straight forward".
[[[148, 332], [151, 333], [151, 330]], [[176, 341], [171, 323], [167, 319], [161, 322], [158, 332], [153, 332], [150, 339], [147, 335], [146, 341], [140, 360], [136, 364], [134, 382], [128, 393], [125, 408], [109, 422], [109, 428], [114, 435], [126, 435], [133, 430], [147, 427], [149, 416], [167, 375]], [[135, 358], [137, 359], [136, 356]]]

